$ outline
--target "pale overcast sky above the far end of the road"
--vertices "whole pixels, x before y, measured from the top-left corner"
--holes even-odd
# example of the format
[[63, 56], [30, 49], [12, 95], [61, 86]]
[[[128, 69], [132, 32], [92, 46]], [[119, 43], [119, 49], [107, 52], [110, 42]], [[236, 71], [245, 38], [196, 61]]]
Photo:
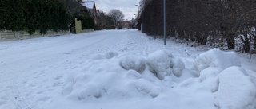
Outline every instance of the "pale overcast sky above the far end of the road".
[[94, 0], [94, 2], [98, 10], [109, 13], [111, 9], [118, 9], [125, 14], [125, 20], [131, 20], [138, 12], [138, 7], [135, 5], [138, 5], [140, 0]]

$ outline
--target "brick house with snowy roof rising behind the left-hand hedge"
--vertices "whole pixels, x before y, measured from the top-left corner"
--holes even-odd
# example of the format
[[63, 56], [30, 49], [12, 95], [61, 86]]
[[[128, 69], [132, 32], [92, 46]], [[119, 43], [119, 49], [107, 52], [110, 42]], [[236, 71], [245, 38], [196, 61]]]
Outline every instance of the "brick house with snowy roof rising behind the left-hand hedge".
[[82, 6], [85, 6], [90, 11], [91, 16], [94, 18], [94, 24], [97, 25], [97, 9], [94, 1], [82, 0]]

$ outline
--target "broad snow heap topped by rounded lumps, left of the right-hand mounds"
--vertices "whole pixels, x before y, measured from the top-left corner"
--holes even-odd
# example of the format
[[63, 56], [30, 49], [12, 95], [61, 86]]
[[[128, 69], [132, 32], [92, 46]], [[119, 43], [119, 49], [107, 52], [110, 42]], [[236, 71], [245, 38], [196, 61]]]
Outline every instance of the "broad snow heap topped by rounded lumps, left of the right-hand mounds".
[[170, 86], [171, 72], [174, 72], [174, 76], [182, 76], [185, 68], [181, 60], [165, 50], [151, 53], [148, 57], [118, 56], [118, 53], [110, 52], [94, 55], [91, 59], [82, 72], [67, 76], [62, 95], [74, 100], [104, 99], [106, 96], [155, 98], [164, 86]]

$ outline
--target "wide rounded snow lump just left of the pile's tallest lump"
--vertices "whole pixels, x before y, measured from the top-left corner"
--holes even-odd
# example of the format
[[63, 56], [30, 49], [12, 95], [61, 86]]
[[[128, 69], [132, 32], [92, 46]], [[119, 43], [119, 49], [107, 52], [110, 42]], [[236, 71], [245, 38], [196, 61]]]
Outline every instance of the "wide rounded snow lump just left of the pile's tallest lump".
[[122, 56], [119, 64], [126, 70], [132, 69], [137, 72], [143, 72], [146, 68], [146, 60], [142, 56]]

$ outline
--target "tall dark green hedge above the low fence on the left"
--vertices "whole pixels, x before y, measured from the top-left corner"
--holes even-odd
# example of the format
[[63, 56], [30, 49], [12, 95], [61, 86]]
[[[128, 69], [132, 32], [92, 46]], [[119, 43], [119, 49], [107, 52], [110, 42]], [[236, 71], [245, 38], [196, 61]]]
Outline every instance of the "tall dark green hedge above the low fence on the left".
[[0, 0], [0, 29], [36, 30], [45, 34], [48, 30], [68, 29], [69, 15], [58, 0]]

